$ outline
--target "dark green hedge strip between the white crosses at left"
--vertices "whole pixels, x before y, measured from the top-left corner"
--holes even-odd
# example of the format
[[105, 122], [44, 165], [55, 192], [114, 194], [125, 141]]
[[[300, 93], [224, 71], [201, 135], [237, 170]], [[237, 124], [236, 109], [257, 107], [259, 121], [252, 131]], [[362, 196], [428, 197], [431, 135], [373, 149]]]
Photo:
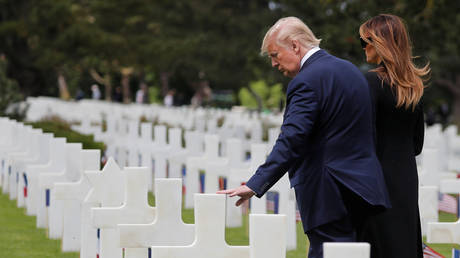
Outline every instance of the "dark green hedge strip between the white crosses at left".
[[98, 149], [103, 153], [106, 148], [104, 143], [95, 142], [93, 135], [84, 135], [72, 131], [70, 124], [56, 117], [28, 124], [34, 128], [41, 128], [44, 132], [53, 133], [55, 137], [65, 137], [67, 142], [82, 143], [83, 149]]

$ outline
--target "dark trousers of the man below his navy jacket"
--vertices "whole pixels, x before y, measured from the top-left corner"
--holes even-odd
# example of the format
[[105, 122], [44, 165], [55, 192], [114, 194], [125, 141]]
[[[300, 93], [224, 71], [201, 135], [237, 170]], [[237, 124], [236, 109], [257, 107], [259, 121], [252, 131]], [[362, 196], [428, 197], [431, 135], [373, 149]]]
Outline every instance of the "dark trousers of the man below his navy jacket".
[[320, 225], [307, 232], [310, 241], [308, 258], [323, 258], [325, 242], [367, 242], [366, 227], [371, 216], [384, 210], [372, 206], [360, 196], [337, 182], [348, 214], [336, 221]]

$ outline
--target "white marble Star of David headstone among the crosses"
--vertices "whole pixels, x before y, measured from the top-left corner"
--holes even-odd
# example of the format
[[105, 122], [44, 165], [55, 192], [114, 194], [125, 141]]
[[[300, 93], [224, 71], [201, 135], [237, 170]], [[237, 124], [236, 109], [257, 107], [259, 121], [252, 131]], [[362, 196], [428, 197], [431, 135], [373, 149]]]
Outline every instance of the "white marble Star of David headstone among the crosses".
[[[95, 202], [101, 207], [119, 207], [123, 204], [125, 186], [123, 173], [113, 158], [109, 158], [102, 172], [85, 171], [85, 176], [93, 186], [85, 202]], [[121, 258], [122, 251], [115, 238], [116, 229], [100, 230], [101, 258]]]

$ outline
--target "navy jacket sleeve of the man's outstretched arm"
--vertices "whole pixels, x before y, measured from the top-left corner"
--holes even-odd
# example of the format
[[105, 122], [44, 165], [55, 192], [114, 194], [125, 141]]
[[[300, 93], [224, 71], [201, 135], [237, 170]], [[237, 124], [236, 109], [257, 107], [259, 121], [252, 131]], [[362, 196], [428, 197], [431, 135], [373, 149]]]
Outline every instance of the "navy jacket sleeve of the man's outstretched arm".
[[246, 183], [257, 197], [264, 195], [305, 153], [317, 115], [318, 101], [313, 89], [304, 82], [292, 81], [281, 133], [265, 163]]

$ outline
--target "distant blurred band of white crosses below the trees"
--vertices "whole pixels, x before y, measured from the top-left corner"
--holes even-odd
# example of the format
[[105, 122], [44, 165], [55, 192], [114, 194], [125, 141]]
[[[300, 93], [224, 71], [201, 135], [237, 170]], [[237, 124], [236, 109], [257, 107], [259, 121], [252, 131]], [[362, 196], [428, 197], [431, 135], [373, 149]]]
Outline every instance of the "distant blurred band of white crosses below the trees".
[[[171, 127], [180, 127], [184, 130], [217, 133], [218, 121], [224, 124], [220, 128], [244, 128], [245, 134], [250, 134], [250, 141], [261, 141], [261, 122], [269, 127], [279, 127], [282, 123], [281, 114], [259, 114], [234, 108], [224, 109], [193, 109], [190, 107], [165, 108], [158, 105], [118, 104], [105, 101], [82, 100], [79, 102], [65, 102], [49, 97], [29, 97], [27, 112], [29, 121], [37, 121], [43, 117], [58, 116], [70, 122], [79, 123], [73, 128], [82, 133], [100, 134], [103, 120], [123, 118], [126, 120], [157, 121]], [[97, 127], [99, 125], [99, 128]], [[238, 133], [243, 136], [243, 134]], [[249, 146], [245, 146], [249, 150]]]

